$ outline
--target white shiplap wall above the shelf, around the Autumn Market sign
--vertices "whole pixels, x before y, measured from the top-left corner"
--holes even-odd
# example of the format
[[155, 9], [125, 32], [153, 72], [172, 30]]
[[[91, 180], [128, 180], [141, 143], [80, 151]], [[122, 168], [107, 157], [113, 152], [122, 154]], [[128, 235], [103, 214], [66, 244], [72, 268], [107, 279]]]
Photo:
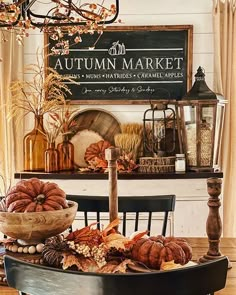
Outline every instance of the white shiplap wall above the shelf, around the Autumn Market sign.
[[[108, 0], [112, 2], [112, 0]], [[213, 34], [212, 34], [212, 0], [120, 0], [120, 25], [188, 25], [194, 26], [193, 34], [193, 75], [198, 66], [206, 73], [206, 82], [213, 85]], [[119, 25], [119, 24], [116, 24]], [[25, 63], [34, 61], [37, 48], [42, 48], [43, 34], [32, 31], [25, 40]], [[193, 78], [194, 81], [194, 78]], [[143, 111], [147, 106], [76, 106], [79, 109], [104, 108], [111, 111], [123, 122], [142, 122]], [[31, 129], [27, 124], [26, 131]]]

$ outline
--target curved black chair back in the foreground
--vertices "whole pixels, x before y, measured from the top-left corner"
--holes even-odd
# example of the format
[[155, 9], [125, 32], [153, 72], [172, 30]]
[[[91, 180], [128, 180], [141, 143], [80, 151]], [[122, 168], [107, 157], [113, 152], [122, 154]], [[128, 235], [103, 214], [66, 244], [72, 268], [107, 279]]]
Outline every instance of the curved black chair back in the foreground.
[[226, 257], [150, 273], [98, 274], [63, 271], [4, 257], [8, 285], [22, 295], [207, 295], [225, 287]]

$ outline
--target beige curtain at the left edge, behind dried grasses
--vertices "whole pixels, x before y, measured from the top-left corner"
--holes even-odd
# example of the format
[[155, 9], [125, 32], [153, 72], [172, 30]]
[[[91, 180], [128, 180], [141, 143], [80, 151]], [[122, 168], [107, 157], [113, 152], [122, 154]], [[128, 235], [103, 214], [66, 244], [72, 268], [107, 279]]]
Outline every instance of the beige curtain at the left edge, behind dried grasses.
[[14, 172], [22, 169], [23, 126], [14, 125], [8, 120], [8, 108], [11, 103], [10, 83], [22, 79], [23, 47], [16, 40], [14, 32], [0, 31], [0, 194], [13, 181]]

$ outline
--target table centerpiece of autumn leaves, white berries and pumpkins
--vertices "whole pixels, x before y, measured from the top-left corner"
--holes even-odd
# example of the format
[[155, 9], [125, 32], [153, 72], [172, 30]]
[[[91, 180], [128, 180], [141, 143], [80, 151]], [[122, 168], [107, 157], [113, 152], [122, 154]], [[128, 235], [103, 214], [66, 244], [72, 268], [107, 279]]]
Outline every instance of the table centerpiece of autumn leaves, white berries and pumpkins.
[[147, 231], [125, 237], [115, 230], [119, 223], [115, 219], [102, 230], [93, 229], [97, 223], [92, 223], [66, 237], [47, 239], [42, 251], [44, 263], [64, 270], [126, 273], [182, 267], [192, 258], [191, 246], [184, 239], [149, 237]]

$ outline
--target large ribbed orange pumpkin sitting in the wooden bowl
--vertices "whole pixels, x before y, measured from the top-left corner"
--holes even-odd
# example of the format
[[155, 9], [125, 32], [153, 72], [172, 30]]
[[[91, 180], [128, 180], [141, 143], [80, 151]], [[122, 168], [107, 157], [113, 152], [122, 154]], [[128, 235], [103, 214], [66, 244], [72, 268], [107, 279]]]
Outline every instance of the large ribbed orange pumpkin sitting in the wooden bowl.
[[68, 208], [65, 192], [56, 183], [38, 178], [21, 180], [6, 195], [8, 212], [37, 212]]

